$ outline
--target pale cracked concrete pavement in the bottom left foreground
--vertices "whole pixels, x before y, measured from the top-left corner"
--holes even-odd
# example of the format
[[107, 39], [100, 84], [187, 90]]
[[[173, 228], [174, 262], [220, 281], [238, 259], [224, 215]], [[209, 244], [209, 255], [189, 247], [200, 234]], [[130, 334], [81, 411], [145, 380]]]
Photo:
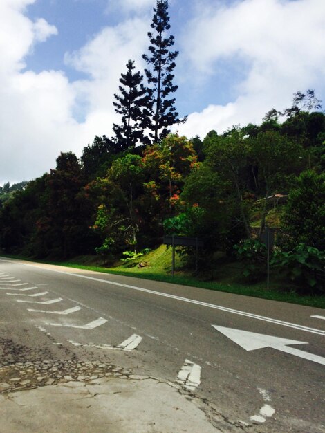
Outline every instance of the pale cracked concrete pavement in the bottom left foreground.
[[0, 369], [1, 433], [221, 431], [212, 425], [215, 415], [175, 384], [99, 362], [59, 364]]

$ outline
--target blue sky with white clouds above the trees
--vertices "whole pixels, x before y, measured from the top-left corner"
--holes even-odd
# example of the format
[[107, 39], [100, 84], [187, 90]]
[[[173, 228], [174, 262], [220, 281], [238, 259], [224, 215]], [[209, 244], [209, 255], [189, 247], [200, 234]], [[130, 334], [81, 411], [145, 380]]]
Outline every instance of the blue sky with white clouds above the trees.
[[[156, 0], [0, 1], [0, 185], [111, 136], [129, 59], [145, 68]], [[169, 0], [174, 131], [204, 138], [261, 122], [314, 89], [325, 106], [325, 0]]]

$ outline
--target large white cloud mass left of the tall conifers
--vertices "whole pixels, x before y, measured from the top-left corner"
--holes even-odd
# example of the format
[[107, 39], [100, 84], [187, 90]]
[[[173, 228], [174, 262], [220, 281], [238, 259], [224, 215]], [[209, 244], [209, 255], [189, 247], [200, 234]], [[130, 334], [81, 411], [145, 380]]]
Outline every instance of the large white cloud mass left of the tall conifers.
[[[140, 68], [147, 46], [147, 23], [133, 19], [102, 29], [66, 55], [69, 66], [88, 73], [88, 80], [69, 82], [62, 71], [24, 71], [35, 44], [57, 34], [44, 19], [32, 22], [24, 15], [28, 3], [33, 1], [0, 6], [0, 185], [41, 176], [55, 167], [61, 151], [80, 156], [95, 135], [109, 135], [117, 120], [112, 99], [120, 73], [129, 57]], [[74, 118], [78, 111], [79, 122]]]

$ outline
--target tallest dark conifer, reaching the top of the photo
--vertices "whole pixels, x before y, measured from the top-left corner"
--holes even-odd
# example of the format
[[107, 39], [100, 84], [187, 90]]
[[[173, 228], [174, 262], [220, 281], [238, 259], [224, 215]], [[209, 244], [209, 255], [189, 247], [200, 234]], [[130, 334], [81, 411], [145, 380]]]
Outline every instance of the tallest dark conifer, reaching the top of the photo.
[[154, 33], [149, 32], [150, 39], [149, 55], [142, 55], [149, 66], [145, 69], [149, 86], [147, 91], [151, 98], [151, 113], [147, 119], [147, 127], [153, 131], [149, 136], [154, 142], [160, 142], [170, 132], [169, 127], [176, 123], [185, 122], [178, 119], [178, 113], [174, 104], [175, 98], [168, 98], [170, 93], [174, 93], [178, 86], [173, 84], [175, 59], [178, 51], [171, 51], [174, 45], [174, 36], [165, 37], [165, 32], [169, 30], [168, 1], [157, 0], [154, 8], [154, 17], [151, 28]]

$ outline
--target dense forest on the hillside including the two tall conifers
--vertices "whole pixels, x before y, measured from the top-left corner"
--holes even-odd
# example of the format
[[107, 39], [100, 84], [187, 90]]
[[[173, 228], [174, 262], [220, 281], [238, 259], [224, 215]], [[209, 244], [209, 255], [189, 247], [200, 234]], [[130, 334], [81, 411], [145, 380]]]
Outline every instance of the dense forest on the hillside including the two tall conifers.
[[[119, 257], [155, 248], [164, 234], [204, 241], [201, 267], [216, 251], [263, 268], [267, 227], [276, 232], [271, 265], [286, 268], [305, 293], [324, 293], [325, 114], [313, 90], [261, 125], [210, 131], [201, 140], [171, 133], [173, 93], [168, 2], [157, 1], [144, 76], [132, 60], [114, 95], [120, 125], [96, 136], [82, 156], [62, 153], [35, 180], [0, 187], [3, 252], [62, 259]], [[191, 264], [194, 252], [183, 248]]]

